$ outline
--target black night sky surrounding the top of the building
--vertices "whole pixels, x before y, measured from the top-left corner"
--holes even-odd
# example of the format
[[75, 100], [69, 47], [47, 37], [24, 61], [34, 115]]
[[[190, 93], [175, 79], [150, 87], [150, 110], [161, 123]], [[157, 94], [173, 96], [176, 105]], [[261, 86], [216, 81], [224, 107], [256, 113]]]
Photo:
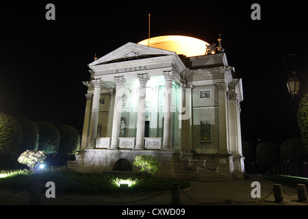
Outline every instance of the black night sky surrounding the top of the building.
[[[308, 70], [287, 59], [301, 80], [291, 99], [283, 57], [308, 62], [305, 1], [1, 1], [0, 112], [73, 125], [84, 121], [88, 64], [127, 42], [151, 36], [193, 36], [212, 43], [222, 34], [229, 65], [242, 77], [242, 140], [281, 142], [298, 137], [298, 103], [308, 92]], [[168, 3], [167, 3], [168, 2]], [[267, 1], [268, 2], [268, 1]], [[45, 6], [55, 4], [55, 21]], [[251, 5], [261, 5], [261, 21]]]

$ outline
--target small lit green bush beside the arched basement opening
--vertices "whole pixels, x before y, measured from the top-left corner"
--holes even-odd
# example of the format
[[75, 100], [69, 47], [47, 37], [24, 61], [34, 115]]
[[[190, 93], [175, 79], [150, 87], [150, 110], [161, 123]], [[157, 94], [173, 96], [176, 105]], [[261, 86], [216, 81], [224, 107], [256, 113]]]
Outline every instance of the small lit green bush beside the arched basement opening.
[[139, 172], [142, 172], [144, 176], [150, 177], [158, 172], [159, 163], [152, 155], [140, 155], [136, 156], [133, 165], [140, 167]]

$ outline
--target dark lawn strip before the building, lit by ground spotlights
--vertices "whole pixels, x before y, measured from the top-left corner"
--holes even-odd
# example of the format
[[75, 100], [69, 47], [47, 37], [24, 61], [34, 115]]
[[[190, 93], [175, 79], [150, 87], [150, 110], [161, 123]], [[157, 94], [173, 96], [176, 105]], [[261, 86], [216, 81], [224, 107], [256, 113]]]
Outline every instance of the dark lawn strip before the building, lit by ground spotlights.
[[[131, 179], [135, 185], [119, 189], [116, 179]], [[56, 192], [157, 192], [171, 189], [172, 183], [180, 183], [181, 189], [189, 188], [190, 182], [176, 178], [153, 177], [144, 179], [142, 177], [131, 177], [127, 175], [112, 175], [99, 172], [73, 172], [45, 170], [34, 175], [28, 170], [17, 170], [5, 175], [0, 172], [0, 188], [14, 190], [29, 190], [33, 181], [47, 181], [55, 183]], [[47, 189], [47, 188], [46, 188]]]

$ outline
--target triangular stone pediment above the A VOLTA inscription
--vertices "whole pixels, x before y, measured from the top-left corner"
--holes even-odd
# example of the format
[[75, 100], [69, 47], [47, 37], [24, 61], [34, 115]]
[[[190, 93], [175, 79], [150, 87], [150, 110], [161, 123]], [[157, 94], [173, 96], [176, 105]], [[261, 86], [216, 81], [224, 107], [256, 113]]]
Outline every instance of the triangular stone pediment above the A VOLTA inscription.
[[99, 64], [107, 64], [112, 62], [123, 62], [126, 60], [141, 59], [146, 57], [156, 57], [162, 55], [175, 55], [175, 52], [157, 49], [154, 47], [147, 47], [144, 45], [128, 42], [118, 49], [100, 57], [88, 66], [96, 66]]

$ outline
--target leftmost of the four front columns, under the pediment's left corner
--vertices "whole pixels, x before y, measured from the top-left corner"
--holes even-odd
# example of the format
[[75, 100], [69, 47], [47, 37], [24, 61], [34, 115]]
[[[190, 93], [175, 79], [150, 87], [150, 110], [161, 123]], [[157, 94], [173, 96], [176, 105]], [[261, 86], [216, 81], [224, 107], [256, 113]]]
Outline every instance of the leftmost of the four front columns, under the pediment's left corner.
[[92, 80], [94, 86], [93, 102], [92, 102], [92, 114], [90, 120], [90, 133], [88, 148], [95, 148], [97, 138], [97, 124], [99, 122], [99, 99], [101, 96], [101, 86], [103, 81], [101, 79]]

